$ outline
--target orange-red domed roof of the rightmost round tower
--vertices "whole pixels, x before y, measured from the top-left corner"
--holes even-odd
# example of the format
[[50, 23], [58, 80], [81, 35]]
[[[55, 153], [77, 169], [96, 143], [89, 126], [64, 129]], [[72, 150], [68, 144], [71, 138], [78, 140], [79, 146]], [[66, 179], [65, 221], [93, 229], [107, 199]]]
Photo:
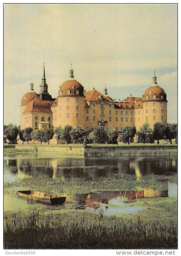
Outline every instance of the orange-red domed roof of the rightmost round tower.
[[160, 86], [150, 86], [144, 93], [144, 101], [149, 100], [167, 100], [165, 91]]

